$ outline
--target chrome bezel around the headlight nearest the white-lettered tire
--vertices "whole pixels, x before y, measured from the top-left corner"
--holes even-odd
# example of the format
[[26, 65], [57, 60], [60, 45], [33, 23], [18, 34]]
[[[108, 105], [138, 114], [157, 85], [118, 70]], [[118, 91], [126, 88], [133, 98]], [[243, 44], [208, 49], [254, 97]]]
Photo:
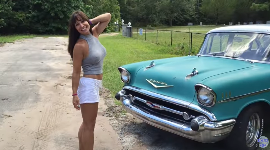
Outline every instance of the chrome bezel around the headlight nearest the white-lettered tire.
[[[196, 90], [196, 97], [197, 101], [200, 105], [206, 106], [206, 107], [212, 107], [215, 105], [216, 100], [217, 100], [217, 95], [216, 93], [208, 86], [203, 85], [203, 84], [195, 84], [195, 90]], [[204, 92], [208, 92], [208, 95], [210, 97], [210, 102], [205, 103], [202, 99], [200, 94], [200, 91], [204, 90]]]

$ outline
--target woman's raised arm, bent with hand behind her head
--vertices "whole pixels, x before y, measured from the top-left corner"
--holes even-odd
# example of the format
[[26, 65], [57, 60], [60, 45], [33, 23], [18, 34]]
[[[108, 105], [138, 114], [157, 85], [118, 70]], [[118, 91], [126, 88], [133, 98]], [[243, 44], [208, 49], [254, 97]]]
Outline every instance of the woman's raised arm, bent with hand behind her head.
[[99, 15], [93, 19], [90, 19], [92, 24], [97, 23], [97, 25], [95, 25], [92, 28], [93, 32], [97, 33], [97, 35], [99, 36], [100, 33], [102, 33], [104, 31], [104, 29], [106, 28], [106, 26], [109, 24], [111, 17], [112, 16], [110, 13], [104, 13], [104, 14]]

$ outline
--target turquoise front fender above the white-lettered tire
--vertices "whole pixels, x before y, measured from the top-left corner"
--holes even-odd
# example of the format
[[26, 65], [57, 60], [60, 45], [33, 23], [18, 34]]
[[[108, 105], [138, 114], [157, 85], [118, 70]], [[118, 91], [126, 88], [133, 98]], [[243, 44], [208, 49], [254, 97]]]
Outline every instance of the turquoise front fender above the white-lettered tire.
[[212, 107], [201, 106], [195, 95], [193, 103], [214, 113], [217, 120], [237, 118], [239, 113], [252, 103], [270, 105], [270, 65], [235, 70], [207, 78], [201, 84], [210, 87], [216, 94]]

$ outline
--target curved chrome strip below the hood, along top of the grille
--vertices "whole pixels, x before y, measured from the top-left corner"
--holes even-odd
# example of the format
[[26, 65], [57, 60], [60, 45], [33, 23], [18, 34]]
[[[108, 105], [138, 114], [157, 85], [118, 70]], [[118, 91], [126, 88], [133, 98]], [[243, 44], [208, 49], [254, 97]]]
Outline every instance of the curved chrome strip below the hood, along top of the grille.
[[135, 92], [138, 92], [140, 94], [147, 95], [149, 97], [159, 99], [161, 101], [173, 103], [175, 105], [182, 106], [184, 108], [188, 108], [188, 109], [194, 110], [196, 112], [200, 112], [200, 113], [206, 115], [210, 119], [210, 121], [217, 121], [217, 118], [215, 117], [215, 115], [213, 113], [211, 113], [208, 110], [206, 110], [204, 108], [201, 108], [200, 106], [195, 105], [193, 103], [183, 101], [183, 100], [180, 100], [180, 99], [176, 99], [176, 98], [172, 98], [172, 97], [168, 97], [168, 96], [165, 96], [165, 95], [157, 94], [157, 93], [150, 92], [150, 91], [140, 89], [140, 88], [137, 88], [137, 87], [133, 87], [133, 86], [130, 86], [130, 85], [124, 86], [122, 88], [122, 90], [124, 90], [124, 89], [135, 91]]

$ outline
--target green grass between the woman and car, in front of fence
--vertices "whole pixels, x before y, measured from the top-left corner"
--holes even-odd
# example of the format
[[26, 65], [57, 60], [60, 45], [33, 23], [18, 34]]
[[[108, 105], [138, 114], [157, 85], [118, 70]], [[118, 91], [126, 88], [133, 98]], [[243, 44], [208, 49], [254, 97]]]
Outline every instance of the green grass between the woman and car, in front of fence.
[[[103, 67], [103, 85], [110, 90], [112, 96], [121, 90], [123, 86], [120, 73], [117, 70], [119, 66], [144, 60], [177, 56], [168, 54], [168, 52], [174, 51], [174, 48], [126, 38], [122, 34], [106, 37], [100, 36], [99, 39], [107, 49], [107, 56], [104, 59]], [[118, 101], [115, 102], [117, 105], [120, 105]]]

